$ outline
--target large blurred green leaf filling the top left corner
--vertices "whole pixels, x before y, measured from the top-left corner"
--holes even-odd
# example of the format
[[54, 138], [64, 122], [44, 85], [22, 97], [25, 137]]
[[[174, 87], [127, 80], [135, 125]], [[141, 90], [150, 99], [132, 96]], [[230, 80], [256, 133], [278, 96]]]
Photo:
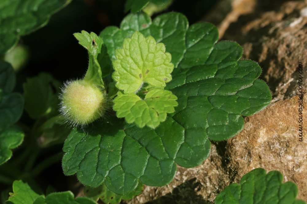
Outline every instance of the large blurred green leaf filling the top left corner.
[[2, 0], [0, 3], [0, 56], [17, 43], [18, 36], [45, 26], [50, 16], [71, 0]]

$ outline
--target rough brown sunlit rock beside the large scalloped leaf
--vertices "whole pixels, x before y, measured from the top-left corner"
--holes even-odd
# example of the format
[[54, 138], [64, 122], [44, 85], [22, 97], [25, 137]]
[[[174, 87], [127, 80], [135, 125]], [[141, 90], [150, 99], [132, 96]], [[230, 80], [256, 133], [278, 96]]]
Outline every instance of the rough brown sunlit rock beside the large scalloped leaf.
[[[257, 61], [260, 79], [273, 100], [266, 109], [245, 117], [243, 131], [212, 144], [209, 158], [195, 168], [178, 167], [167, 186], [144, 188], [142, 195], [122, 203], [214, 203], [216, 195], [255, 168], [278, 170], [299, 188], [307, 201], [307, 137], [298, 139], [298, 62], [307, 85], [307, 1], [222, 0], [204, 20], [216, 24], [223, 40], [243, 47], [243, 59]], [[307, 97], [304, 97], [304, 104]], [[305, 124], [305, 109], [303, 124]]]

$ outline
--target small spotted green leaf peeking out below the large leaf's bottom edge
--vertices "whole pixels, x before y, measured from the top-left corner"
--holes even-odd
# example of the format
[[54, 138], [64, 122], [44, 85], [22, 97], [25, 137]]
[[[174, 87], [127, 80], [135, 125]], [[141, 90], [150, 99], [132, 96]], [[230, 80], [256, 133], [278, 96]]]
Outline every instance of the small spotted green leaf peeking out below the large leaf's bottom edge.
[[134, 191], [127, 195], [118, 195], [112, 191], [110, 191], [106, 184], [102, 184], [99, 187], [93, 188], [86, 186], [84, 187], [84, 194], [86, 197], [91, 198], [97, 201], [99, 198], [106, 204], [116, 204], [121, 200], [130, 200], [134, 196], [140, 195], [143, 191], [143, 184], [138, 184]]

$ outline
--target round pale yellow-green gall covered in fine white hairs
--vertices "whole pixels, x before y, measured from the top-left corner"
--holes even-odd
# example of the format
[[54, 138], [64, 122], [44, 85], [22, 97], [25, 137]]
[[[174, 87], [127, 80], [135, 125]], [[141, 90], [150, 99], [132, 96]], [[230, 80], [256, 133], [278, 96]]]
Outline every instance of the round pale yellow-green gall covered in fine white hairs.
[[61, 112], [76, 125], [89, 124], [103, 116], [106, 110], [101, 89], [84, 80], [65, 84], [61, 100]]

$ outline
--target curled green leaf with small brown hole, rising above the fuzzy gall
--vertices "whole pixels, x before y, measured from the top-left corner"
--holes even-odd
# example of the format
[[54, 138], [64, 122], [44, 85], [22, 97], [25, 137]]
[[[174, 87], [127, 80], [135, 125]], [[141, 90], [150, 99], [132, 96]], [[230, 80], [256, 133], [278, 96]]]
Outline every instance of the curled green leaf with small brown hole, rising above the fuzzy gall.
[[86, 31], [74, 33], [74, 36], [79, 40], [79, 44], [88, 51], [89, 62], [84, 80], [104, 87], [102, 77], [110, 73], [111, 62], [103, 40], [95, 33], [89, 34]]

